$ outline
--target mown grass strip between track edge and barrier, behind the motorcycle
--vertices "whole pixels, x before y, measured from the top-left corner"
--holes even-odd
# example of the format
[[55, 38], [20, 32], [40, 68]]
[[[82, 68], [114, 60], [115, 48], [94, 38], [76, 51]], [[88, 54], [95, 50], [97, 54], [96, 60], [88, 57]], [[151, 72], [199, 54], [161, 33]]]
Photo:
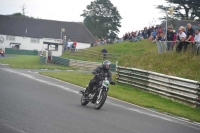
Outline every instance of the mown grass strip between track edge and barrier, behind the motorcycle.
[[[86, 87], [89, 80], [92, 78], [92, 74], [78, 72], [56, 72], [42, 74], [82, 87]], [[159, 112], [167, 112], [176, 116], [188, 118], [192, 121], [200, 122], [199, 109], [191, 108], [186, 105], [162, 98], [160, 96], [150, 94], [139, 89], [134, 89], [127, 85], [117, 84], [116, 86], [110, 86], [108, 94], [109, 96], [121, 99], [123, 101], [151, 109], [156, 109]]]

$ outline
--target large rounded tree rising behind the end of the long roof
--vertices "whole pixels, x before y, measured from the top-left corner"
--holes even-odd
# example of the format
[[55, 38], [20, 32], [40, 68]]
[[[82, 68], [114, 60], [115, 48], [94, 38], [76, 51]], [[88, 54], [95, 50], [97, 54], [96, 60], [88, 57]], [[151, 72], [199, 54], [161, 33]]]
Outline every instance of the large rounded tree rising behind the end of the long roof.
[[117, 37], [122, 17], [110, 0], [95, 0], [86, 7], [81, 16], [85, 26], [98, 38]]

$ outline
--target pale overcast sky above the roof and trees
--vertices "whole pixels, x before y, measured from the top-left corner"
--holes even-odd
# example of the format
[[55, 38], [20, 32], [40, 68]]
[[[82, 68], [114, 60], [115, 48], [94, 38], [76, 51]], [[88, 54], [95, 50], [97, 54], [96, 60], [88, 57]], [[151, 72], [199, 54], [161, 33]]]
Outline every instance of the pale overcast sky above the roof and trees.
[[[0, 0], [0, 14], [8, 15], [22, 12], [26, 5], [26, 15], [41, 19], [83, 22], [80, 14], [94, 0]], [[166, 4], [165, 0], [110, 0], [122, 16], [119, 37], [125, 32], [140, 30], [152, 23], [163, 13], [155, 9], [155, 5]], [[0, 20], [1, 21], [1, 20]]]

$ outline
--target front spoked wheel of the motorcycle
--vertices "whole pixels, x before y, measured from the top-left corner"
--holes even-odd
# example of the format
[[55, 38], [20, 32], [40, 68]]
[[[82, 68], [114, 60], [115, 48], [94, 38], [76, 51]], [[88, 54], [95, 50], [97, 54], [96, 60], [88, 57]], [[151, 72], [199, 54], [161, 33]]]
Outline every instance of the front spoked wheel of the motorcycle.
[[99, 110], [105, 103], [106, 98], [107, 98], [107, 92], [102, 91], [100, 97], [96, 100], [96, 102], [94, 104], [94, 108]]

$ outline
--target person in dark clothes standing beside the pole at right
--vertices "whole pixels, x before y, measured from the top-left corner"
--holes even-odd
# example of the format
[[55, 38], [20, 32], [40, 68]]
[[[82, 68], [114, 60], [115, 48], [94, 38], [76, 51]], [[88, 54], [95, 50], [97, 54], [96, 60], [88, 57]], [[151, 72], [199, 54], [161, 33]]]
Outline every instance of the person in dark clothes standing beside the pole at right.
[[172, 49], [172, 41], [173, 40], [174, 40], [173, 27], [168, 26], [168, 28], [167, 28], [167, 43], [166, 43], [166, 50], [167, 51], [173, 51], [173, 49]]

